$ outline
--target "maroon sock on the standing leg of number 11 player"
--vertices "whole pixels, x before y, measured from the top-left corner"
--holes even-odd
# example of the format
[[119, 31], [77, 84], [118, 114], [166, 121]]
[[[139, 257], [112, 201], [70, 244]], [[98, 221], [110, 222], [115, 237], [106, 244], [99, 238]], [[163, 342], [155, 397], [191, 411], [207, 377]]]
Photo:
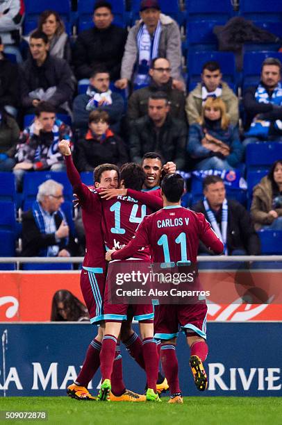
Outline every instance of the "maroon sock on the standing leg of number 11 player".
[[179, 363], [176, 357], [174, 344], [162, 344], [160, 360], [167, 378], [170, 394], [180, 393], [179, 389]]

